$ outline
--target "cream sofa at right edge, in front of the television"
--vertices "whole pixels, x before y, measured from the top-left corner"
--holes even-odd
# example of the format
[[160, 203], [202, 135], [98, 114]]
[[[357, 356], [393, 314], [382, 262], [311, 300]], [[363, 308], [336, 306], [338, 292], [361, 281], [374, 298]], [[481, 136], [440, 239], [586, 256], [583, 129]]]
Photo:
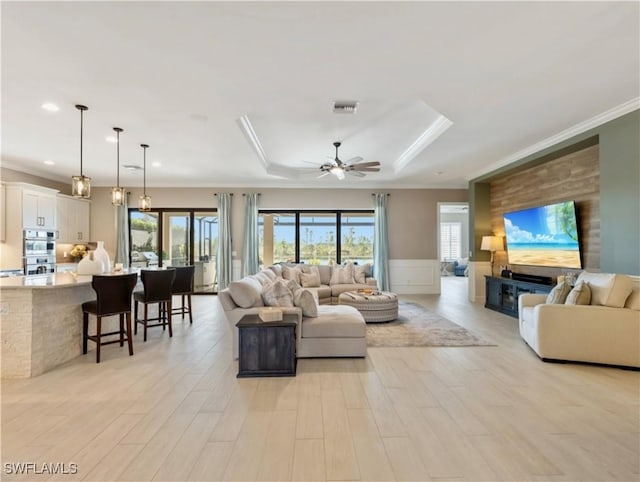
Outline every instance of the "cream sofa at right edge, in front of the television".
[[543, 361], [640, 368], [640, 279], [585, 271], [575, 287], [585, 285], [590, 297], [582, 303], [587, 304], [521, 295], [520, 335]]

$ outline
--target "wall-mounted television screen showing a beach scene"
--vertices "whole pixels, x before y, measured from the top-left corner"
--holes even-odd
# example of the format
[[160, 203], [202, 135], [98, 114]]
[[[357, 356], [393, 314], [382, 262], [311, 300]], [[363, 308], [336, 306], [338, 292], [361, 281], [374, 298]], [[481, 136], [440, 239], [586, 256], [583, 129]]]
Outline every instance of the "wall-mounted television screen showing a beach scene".
[[510, 264], [582, 268], [574, 201], [504, 214]]

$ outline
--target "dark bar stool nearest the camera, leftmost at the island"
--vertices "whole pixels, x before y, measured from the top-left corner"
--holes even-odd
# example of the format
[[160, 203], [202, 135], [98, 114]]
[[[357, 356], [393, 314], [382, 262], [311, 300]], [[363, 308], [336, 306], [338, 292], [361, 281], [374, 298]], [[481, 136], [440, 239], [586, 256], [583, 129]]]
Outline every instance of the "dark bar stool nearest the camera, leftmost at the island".
[[[96, 299], [82, 303], [82, 353], [87, 354], [87, 340], [96, 343], [96, 363], [100, 363], [100, 347], [124, 341], [129, 345], [129, 356], [133, 355], [131, 338], [131, 293], [136, 286], [138, 275], [135, 273], [116, 276], [94, 276], [91, 287], [96, 292]], [[95, 315], [96, 334], [89, 335], [89, 314]], [[120, 315], [120, 330], [102, 333], [102, 318]], [[127, 318], [126, 332], [124, 319]], [[103, 336], [120, 335], [117, 340], [102, 341]]]

